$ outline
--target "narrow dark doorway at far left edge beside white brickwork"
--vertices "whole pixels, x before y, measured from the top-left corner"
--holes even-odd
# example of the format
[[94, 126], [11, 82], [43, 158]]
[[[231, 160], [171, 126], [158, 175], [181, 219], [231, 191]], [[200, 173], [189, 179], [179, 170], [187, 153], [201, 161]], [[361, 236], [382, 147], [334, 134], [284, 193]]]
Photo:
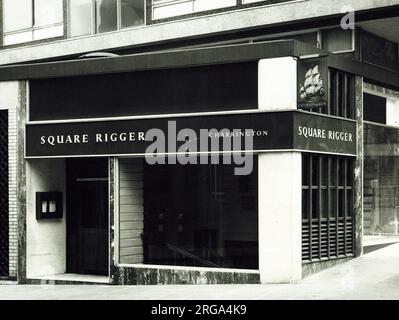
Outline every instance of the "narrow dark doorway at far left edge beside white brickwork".
[[8, 112], [0, 111], [0, 277], [8, 277]]

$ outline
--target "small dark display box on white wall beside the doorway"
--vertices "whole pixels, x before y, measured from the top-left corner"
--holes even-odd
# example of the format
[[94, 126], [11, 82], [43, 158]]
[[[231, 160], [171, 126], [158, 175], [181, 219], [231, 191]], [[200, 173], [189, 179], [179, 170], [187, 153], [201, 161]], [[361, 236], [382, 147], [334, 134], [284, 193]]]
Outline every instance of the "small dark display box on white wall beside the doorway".
[[62, 218], [62, 192], [36, 192], [36, 220]]

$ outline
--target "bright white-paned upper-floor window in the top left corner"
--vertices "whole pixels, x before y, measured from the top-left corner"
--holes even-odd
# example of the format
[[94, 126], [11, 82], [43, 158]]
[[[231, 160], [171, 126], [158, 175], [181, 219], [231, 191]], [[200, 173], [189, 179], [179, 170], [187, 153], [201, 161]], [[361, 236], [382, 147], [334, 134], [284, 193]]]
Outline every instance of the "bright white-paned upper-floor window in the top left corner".
[[12, 45], [61, 37], [62, 0], [3, 0], [3, 43]]

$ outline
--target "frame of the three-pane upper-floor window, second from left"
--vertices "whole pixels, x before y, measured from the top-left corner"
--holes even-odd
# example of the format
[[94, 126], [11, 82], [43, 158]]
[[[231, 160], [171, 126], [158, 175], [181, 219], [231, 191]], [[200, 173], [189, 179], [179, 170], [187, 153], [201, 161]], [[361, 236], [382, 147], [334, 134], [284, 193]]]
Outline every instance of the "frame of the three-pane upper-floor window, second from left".
[[67, 10], [67, 14], [66, 14], [66, 23], [67, 23], [67, 38], [82, 38], [82, 37], [89, 37], [89, 36], [94, 36], [94, 35], [100, 35], [100, 34], [107, 34], [107, 33], [112, 33], [112, 32], [118, 32], [118, 31], [122, 31], [122, 30], [129, 30], [129, 29], [135, 29], [135, 28], [140, 28], [142, 26], [145, 26], [147, 23], [147, 1], [146, 0], [141, 0], [143, 2], [143, 23], [140, 25], [134, 25], [134, 26], [130, 26], [130, 27], [125, 27], [122, 28], [122, 4], [121, 4], [121, 0], [116, 0], [117, 4], [116, 4], [116, 30], [112, 30], [112, 31], [106, 31], [106, 32], [98, 32], [97, 31], [97, 0], [91, 0], [91, 26], [90, 26], [90, 34], [84, 34], [84, 35], [76, 35], [73, 36], [71, 34], [71, 27], [72, 27], [72, 23], [71, 23], [71, 0], [64, 0], [66, 2], [66, 10]]

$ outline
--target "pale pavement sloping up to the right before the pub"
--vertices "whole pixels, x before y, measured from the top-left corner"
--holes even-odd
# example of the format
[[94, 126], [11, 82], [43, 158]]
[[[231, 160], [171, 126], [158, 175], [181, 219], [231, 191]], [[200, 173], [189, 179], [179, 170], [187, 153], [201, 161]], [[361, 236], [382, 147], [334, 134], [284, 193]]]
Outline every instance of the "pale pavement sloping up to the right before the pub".
[[296, 284], [0, 285], [0, 300], [369, 300], [399, 299], [399, 243]]

